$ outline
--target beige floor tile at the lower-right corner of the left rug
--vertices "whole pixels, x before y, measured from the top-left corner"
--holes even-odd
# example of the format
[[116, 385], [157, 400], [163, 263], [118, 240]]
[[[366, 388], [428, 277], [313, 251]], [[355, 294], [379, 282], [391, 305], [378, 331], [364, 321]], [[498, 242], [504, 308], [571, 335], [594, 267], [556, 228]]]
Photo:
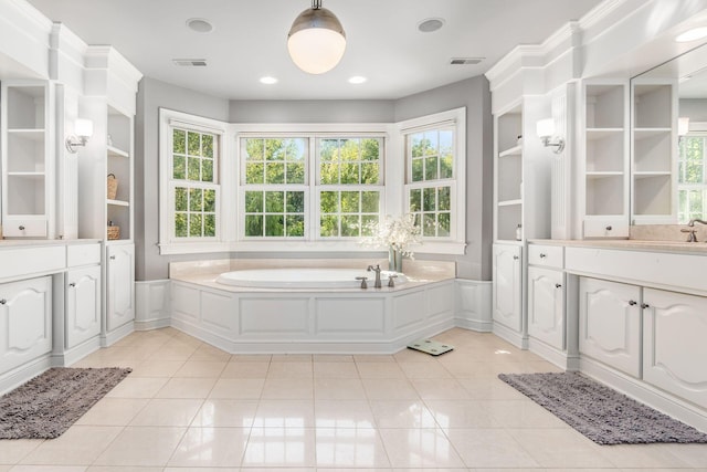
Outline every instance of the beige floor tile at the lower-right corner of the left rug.
[[59, 438], [42, 442], [21, 463], [91, 465], [122, 431], [122, 427], [73, 426]]

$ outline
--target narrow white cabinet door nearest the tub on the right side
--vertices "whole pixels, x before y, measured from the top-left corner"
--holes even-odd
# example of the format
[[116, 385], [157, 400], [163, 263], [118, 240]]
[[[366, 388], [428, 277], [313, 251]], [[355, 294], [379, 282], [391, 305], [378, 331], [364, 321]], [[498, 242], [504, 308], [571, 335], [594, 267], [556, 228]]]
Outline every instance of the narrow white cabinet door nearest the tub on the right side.
[[523, 248], [510, 244], [494, 244], [494, 322], [523, 331], [521, 255]]

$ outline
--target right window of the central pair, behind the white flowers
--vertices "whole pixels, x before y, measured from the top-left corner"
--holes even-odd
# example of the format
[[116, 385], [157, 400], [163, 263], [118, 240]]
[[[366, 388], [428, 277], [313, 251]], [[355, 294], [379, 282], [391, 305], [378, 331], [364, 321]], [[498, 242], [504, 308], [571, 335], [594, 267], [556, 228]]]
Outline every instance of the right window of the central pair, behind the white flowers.
[[381, 138], [318, 139], [319, 237], [370, 235], [382, 191]]

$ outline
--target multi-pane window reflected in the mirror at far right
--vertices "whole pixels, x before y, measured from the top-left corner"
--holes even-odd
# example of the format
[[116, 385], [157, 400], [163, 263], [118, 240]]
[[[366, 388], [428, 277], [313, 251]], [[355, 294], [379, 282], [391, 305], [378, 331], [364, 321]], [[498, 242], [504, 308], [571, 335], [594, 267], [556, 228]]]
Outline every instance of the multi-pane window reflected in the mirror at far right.
[[678, 210], [680, 223], [707, 217], [707, 133], [680, 137], [678, 156]]

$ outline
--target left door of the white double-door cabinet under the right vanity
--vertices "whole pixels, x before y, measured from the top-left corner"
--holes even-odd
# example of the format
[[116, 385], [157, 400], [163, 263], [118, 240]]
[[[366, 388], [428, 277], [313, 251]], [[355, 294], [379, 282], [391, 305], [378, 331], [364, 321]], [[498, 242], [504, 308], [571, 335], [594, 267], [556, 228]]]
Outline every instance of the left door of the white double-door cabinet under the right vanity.
[[579, 350], [641, 377], [641, 287], [599, 279], [579, 282]]

